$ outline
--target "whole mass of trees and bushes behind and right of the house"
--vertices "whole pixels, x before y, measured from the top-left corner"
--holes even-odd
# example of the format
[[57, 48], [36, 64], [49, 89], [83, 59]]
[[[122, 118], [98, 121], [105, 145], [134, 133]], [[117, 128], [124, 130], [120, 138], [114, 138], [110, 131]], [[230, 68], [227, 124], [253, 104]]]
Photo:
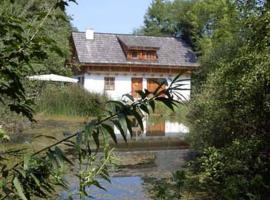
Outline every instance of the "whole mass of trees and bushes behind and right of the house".
[[199, 55], [188, 114], [197, 157], [184, 186], [193, 199], [269, 199], [269, 20], [269, 1], [156, 0], [137, 30], [180, 35]]

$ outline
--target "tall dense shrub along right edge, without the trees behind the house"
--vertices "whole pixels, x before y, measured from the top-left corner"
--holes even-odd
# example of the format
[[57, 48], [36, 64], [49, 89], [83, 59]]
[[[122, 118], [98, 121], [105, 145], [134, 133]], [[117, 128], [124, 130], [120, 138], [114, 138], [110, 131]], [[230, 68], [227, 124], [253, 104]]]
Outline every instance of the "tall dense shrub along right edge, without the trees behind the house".
[[229, 43], [237, 46], [227, 49], [228, 38], [220, 35], [202, 55], [203, 67], [214, 67], [202, 68], [205, 82], [189, 113], [190, 141], [202, 153], [193, 173], [204, 199], [268, 199], [269, 5], [232, 5], [238, 21], [228, 21], [235, 26]]

